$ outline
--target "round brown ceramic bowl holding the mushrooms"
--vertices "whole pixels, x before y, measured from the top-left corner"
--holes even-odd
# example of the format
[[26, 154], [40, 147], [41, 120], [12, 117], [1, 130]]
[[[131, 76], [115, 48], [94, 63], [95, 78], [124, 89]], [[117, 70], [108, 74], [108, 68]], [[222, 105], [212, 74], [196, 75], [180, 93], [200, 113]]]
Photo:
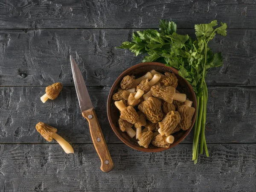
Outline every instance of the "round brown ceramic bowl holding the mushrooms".
[[[119, 137], [119, 139], [122, 140], [123, 143], [125, 143], [129, 147], [137, 149], [139, 151], [158, 152], [158, 151], [164, 151], [168, 148], [160, 148], [160, 147], [156, 147], [152, 144], [150, 144], [148, 146], [148, 148], [141, 147], [137, 143], [137, 140], [135, 138], [131, 139], [131, 137], [129, 137], [126, 132], [120, 131], [119, 126], [118, 126], [118, 119], [119, 119], [120, 114], [112, 100], [112, 96], [114, 93], [116, 93], [117, 89], [120, 88], [120, 82], [122, 81], [124, 76], [133, 75], [136, 78], [138, 78], [140, 76], [145, 75], [145, 73], [147, 73], [150, 70], [157, 70], [160, 73], [164, 73], [164, 72], [175, 73], [175, 75], [177, 76], [177, 79], [178, 79], [177, 90], [179, 90], [180, 93], [185, 93], [187, 95], [187, 98], [189, 100], [193, 101], [192, 107], [194, 107], [195, 111], [196, 111], [196, 106], [197, 106], [196, 105], [196, 97], [195, 97], [195, 93], [192, 89], [192, 86], [185, 79], [183, 79], [181, 76], [178, 75], [178, 71], [176, 69], [174, 69], [173, 67], [167, 67], [164, 64], [157, 63], [157, 62], [140, 63], [140, 64], [136, 64], [136, 65], [130, 67], [129, 69], [125, 70], [116, 79], [113, 86], [111, 87], [110, 93], [108, 95], [107, 111], [108, 111], [108, 120], [110, 122], [110, 125], [111, 125], [113, 131], [115, 132], [115, 134], [117, 135], [117, 137]], [[177, 145], [178, 143], [180, 143], [189, 134], [189, 132], [191, 131], [191, 129], [195, 123], [195, 117], [196, 117], [196, 112], [192, 118], [192, 124], [188, 130], [186, 130], [186, 131], [181, 130], [181, 131], [178, 131], [175, 134], [173, 134], [173, 136], [175, 137], [175, 141], [174, 141], [174, 143], [172, 143], [170, 145], [169, 148], [172, 148], [175, 145]]]

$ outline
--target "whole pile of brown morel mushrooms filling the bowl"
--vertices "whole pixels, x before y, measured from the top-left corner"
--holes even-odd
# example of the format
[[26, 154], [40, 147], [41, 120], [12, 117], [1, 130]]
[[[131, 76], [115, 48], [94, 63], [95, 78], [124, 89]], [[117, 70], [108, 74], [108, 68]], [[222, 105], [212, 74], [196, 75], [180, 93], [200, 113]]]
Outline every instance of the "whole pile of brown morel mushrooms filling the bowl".
[[177, 85], [177, 77], [169, 72], [151, 70], [138, 79], [125, 76], [112, 97], [120, 111], [120, 130], [145, 148], [150, 143], [168, 148], [175, 140], [172, 134], [187, 130], [195, 113], [192, 101], [176, 90]]

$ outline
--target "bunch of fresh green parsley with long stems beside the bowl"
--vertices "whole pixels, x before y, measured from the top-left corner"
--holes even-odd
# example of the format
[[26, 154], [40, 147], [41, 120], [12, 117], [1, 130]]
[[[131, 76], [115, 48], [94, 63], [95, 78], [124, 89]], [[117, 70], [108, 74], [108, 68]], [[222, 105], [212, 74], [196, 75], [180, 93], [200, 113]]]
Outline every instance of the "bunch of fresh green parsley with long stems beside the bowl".
[[118, 47], [129, 49], [136, 56], [147, 53], [143, 62], [158, 61], [172, 66], [192, 85], [197, 96], [192, 154], [192, 160], [195, 160], [195, 163], [198, 160], [198, 152], [202, 154], [203, 149], [207, 157], [209, 156], [204, 135], [208, 98], [205, 76], [210, 68], [222, 65], [222, 55], [221, 52], [212, 53], [208, 43], [215, 37], [216, 32], [223, 36], [227, 35], [227, 24], [221, 23], [221, 26], [216, 27], [217, 25], [217, 20], [195, 25], [196, 40], [192, 40], [189, 35], [177, 34], [177, 26], [173, 21], [160, 20], [159, 30], [134, 32], [132, 42], [125, 41]]

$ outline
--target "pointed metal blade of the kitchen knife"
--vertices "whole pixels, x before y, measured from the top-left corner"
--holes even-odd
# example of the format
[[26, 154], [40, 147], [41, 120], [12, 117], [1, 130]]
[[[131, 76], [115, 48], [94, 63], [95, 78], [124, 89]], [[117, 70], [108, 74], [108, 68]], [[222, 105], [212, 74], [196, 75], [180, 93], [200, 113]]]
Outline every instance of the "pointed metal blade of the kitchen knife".
[[78, 65], [76, 64], [75, 59], [70, 55], [70, 62], [72, 67], [73, 79], [76, 87], [76, 94], [78, 97], [79, 105], [81, 111], [86, 111], [93, 108], [93, 104], [90, 100], [87, 87], [84, 83], [84, 78], [81, 71], [79, 70]]

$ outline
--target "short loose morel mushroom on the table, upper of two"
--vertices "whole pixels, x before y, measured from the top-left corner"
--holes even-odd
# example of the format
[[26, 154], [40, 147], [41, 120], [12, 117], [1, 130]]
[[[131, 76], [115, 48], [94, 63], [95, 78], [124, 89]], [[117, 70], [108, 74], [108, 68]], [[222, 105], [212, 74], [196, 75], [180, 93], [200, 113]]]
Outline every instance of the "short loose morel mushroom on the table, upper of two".
[[45, 103], [47, 99], [55, 99], [58, 97], [58, 94], [61, 92], [62, 84], [61, 83], [54, 83], [52, 85], [49, 85], [45, 88], [45, 94], [41, 96], [41, 101]]

